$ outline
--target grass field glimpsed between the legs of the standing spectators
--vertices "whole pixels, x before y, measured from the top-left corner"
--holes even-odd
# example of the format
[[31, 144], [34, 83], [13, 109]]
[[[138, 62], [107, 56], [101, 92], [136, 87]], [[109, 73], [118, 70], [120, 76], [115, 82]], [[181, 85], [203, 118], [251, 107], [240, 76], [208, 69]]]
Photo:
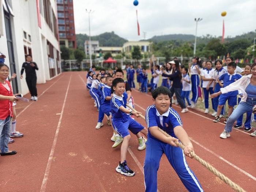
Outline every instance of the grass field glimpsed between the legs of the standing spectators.
[[[151, 77], [152, 77], [151, 72], [148, 70], [147, 73], [148, 73], [148, 80], [151, 80]], [[126, 79], [126, 74], [125, 74], [125, 79]], [[161, 83], [162, 83], [162, 76], [159, 77], [159, 82], [158, 82], [157, 86], [158, 87], [161, 86]], [[136, 80], [136, 75], [135, 75], [135, 87], [136, 87], [136, 89], [139, 88], [139, 84], [137, 83], [137, 80]], [[192, 98], [192, 92], [190, 93], [190, 98]], [[186, 103], [186, 105], [187, 105], [187, 103]], [[225, 111], [226, 111], [225, 116], [227, 116], [228, 105], [226, 104], [225, 107], [226, 107], [225, 108]], [[201, 98], [199, 98], [197, 100], [196, 108], [198, 108], [202, 111], [205, 110], [204, 102], [202, 102]], [[209, 113], [212, 114], [213, 112], [214, 112], [214, 110], [212, 110], [211, 99], [209, 98]], [[243, 123], [245, 122], [245, 118], [246, 118], [246, 114], [244, 114]], [[252, 127], [256, 127], [256, 123], [252, 123]]]

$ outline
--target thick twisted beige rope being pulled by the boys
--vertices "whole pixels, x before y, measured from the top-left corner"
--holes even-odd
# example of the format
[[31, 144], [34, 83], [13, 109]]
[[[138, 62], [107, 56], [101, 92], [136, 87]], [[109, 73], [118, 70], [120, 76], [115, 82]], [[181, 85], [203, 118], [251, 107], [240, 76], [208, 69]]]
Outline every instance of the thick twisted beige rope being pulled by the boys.
[[[133, 109], [132, 107], [130, 107], [128, 104], [126, 105], [127, 107], [129, 107], [132, 111], [135, 111], [135, 109]], [[141, 117], [142, 119], [145, 120], [145, 117], [141, 114], [139, 114], [139, 117]], [[166, 137], [172, 137], [169, 134], [167, 134], [165, 131], [163, 131], [161, 128], [158, 127], [158, 130], [161, 131], [162, 134], [164, 134]], [[182, 143], [174, 141], [182, 150], [185, 149], [185, 146], [182, 145]], [[226, 177], [224, 174], [222, 174], [221, 172], [219, 172], [216, 168], [214, 168], [212, 165], [210, 165], [208, 162], [204, 161], [202, 158], [200, 158], [199, 156], [197, 156], [193, 151], [190, 152], [191, 156], [193, 158], [195, 158], [196, 161], [198, 161], [200, 164], [202, 164], [203, 166], [205, 166], [208, 170], [210, 170], [210, 172], [212, 172], [213, 174], [215, 174], [217, 177], [219, 177], [222, 181], [224, 181], [227, 185], [229, 185], [232, 189], [234, 189], [237, 192], [246, 192], [244, 189], [242, 189], [239, 185], [237, 185], [236, 183], [234, 183], [233, 181], [231, 181], [228, 177]]]

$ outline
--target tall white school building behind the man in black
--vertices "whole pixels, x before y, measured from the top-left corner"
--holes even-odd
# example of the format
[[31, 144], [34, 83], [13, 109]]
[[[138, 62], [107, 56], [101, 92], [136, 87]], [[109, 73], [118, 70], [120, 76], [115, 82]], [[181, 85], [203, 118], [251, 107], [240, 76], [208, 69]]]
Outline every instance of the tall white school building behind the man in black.
[[61, 73], [56, 0], [0, 0], [0, 52], [10, 66], [14, 93], [29, 92], [26, 74], [20, 79], [25, 55], [37, 63], [37, 83]]

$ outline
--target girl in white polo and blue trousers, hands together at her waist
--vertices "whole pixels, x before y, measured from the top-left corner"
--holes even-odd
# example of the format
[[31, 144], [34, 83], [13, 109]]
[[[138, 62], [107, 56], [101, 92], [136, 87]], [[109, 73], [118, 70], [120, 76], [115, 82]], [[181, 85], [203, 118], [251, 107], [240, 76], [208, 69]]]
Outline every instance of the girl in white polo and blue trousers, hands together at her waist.
[[[210, 95], [213, 94], [213, 82], [212, 76], [214, 74], [214, 69], [212, 69], [212, 62], [210, 60], [206, 61], [206, 68], [202, 70], [201, 77], [203, 80], [203, 91], [204, 91], [204, 107], [205, 107], [205, 114], [209, 113], [209, 93]], [[214, 109], [214, 102], [211, 99], [212, 109]]]

